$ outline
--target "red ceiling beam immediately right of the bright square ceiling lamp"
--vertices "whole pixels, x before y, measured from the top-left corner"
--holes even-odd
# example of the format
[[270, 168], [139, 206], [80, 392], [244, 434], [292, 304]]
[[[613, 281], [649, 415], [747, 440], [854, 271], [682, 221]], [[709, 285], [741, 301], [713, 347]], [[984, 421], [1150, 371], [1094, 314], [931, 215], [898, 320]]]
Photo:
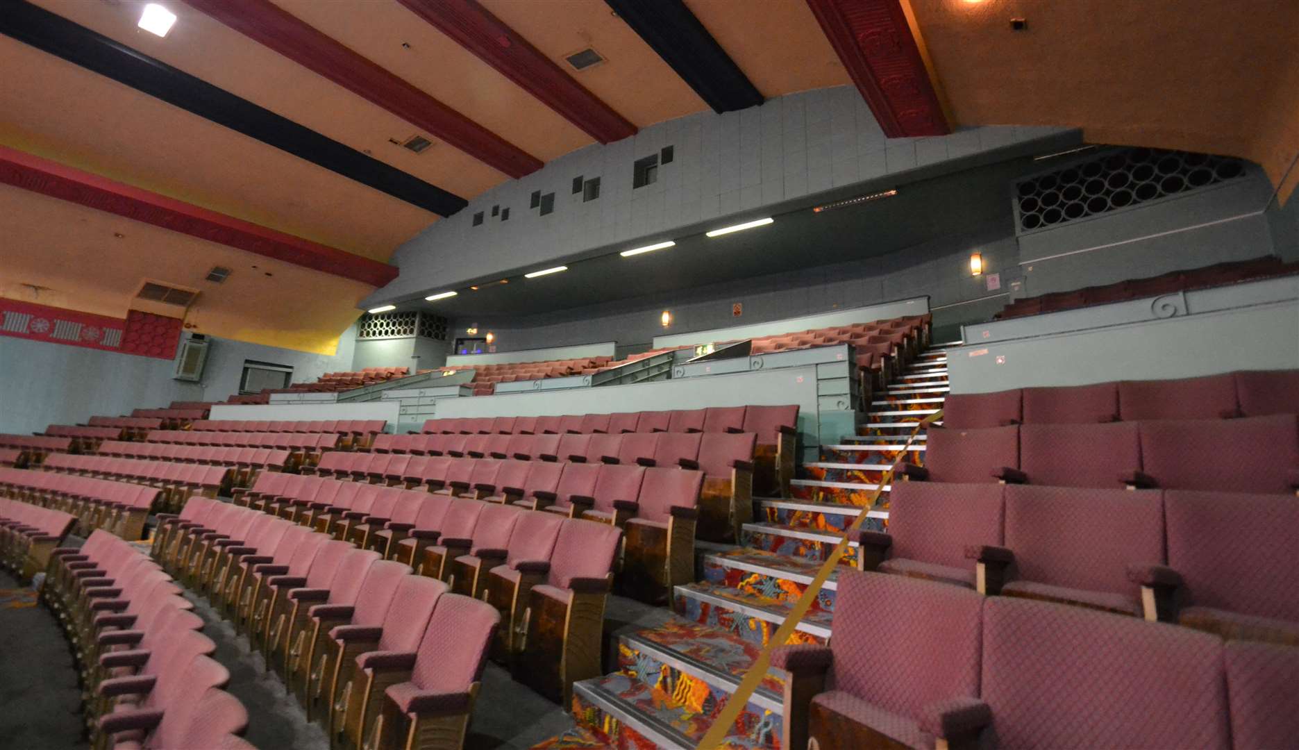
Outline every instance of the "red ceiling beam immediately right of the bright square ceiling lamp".
[[269, 0], [186, 0], [235, 31], [511, 177], [542, 161]]

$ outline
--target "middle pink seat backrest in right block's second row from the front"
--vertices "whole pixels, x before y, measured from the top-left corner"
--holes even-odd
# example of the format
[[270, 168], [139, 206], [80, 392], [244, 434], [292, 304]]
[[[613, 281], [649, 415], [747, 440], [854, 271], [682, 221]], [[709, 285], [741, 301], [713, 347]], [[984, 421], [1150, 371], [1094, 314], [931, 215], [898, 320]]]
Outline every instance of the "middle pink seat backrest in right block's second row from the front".
[[1020, 578], [1135, 601], [1128, 568], [1164, 564], [1163, 493], [1008, 485], [1004, 546]]

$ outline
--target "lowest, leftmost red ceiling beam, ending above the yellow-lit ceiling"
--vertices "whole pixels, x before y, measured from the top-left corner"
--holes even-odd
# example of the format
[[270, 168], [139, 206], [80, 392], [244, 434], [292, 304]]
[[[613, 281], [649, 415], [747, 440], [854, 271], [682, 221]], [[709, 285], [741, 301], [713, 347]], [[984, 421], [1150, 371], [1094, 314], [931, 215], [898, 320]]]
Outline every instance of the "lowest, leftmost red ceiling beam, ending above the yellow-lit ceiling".
[[383, 286], [396, 266], [0, 146], [0, 183], [312, 270]]

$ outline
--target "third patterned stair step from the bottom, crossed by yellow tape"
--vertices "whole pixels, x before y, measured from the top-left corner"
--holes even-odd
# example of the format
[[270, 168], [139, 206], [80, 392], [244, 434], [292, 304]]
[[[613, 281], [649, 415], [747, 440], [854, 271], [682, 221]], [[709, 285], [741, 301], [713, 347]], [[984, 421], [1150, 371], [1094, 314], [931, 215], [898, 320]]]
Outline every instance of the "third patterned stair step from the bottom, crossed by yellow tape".
[[[714, 586], [712, 584], [686, 584], [673, 593], [682, 616], [704, 625], [720, 627], [759, 645], [766, 643], [781, 627], [792, 602], [766, 599], [756, 594]], [[825, 611], [809, 611], [795, 627], [790, 643], [825, 643], [830, 637], [834, 616]]]

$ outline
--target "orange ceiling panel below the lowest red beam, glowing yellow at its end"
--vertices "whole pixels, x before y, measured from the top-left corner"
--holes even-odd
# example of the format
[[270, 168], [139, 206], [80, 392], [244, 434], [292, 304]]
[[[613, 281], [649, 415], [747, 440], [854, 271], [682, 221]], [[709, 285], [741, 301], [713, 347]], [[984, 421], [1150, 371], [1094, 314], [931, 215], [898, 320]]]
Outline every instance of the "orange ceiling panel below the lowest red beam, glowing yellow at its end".
[[[0, 296], [121, 318], [144, 279], [170, 282], [200, 290], [187, 316], [197, 333], [320, 354], [334, 352], [373, 291], [10, 186], [0, 186]], [[231, 269], [223, 283], [204, 281], [213, 265]]]

